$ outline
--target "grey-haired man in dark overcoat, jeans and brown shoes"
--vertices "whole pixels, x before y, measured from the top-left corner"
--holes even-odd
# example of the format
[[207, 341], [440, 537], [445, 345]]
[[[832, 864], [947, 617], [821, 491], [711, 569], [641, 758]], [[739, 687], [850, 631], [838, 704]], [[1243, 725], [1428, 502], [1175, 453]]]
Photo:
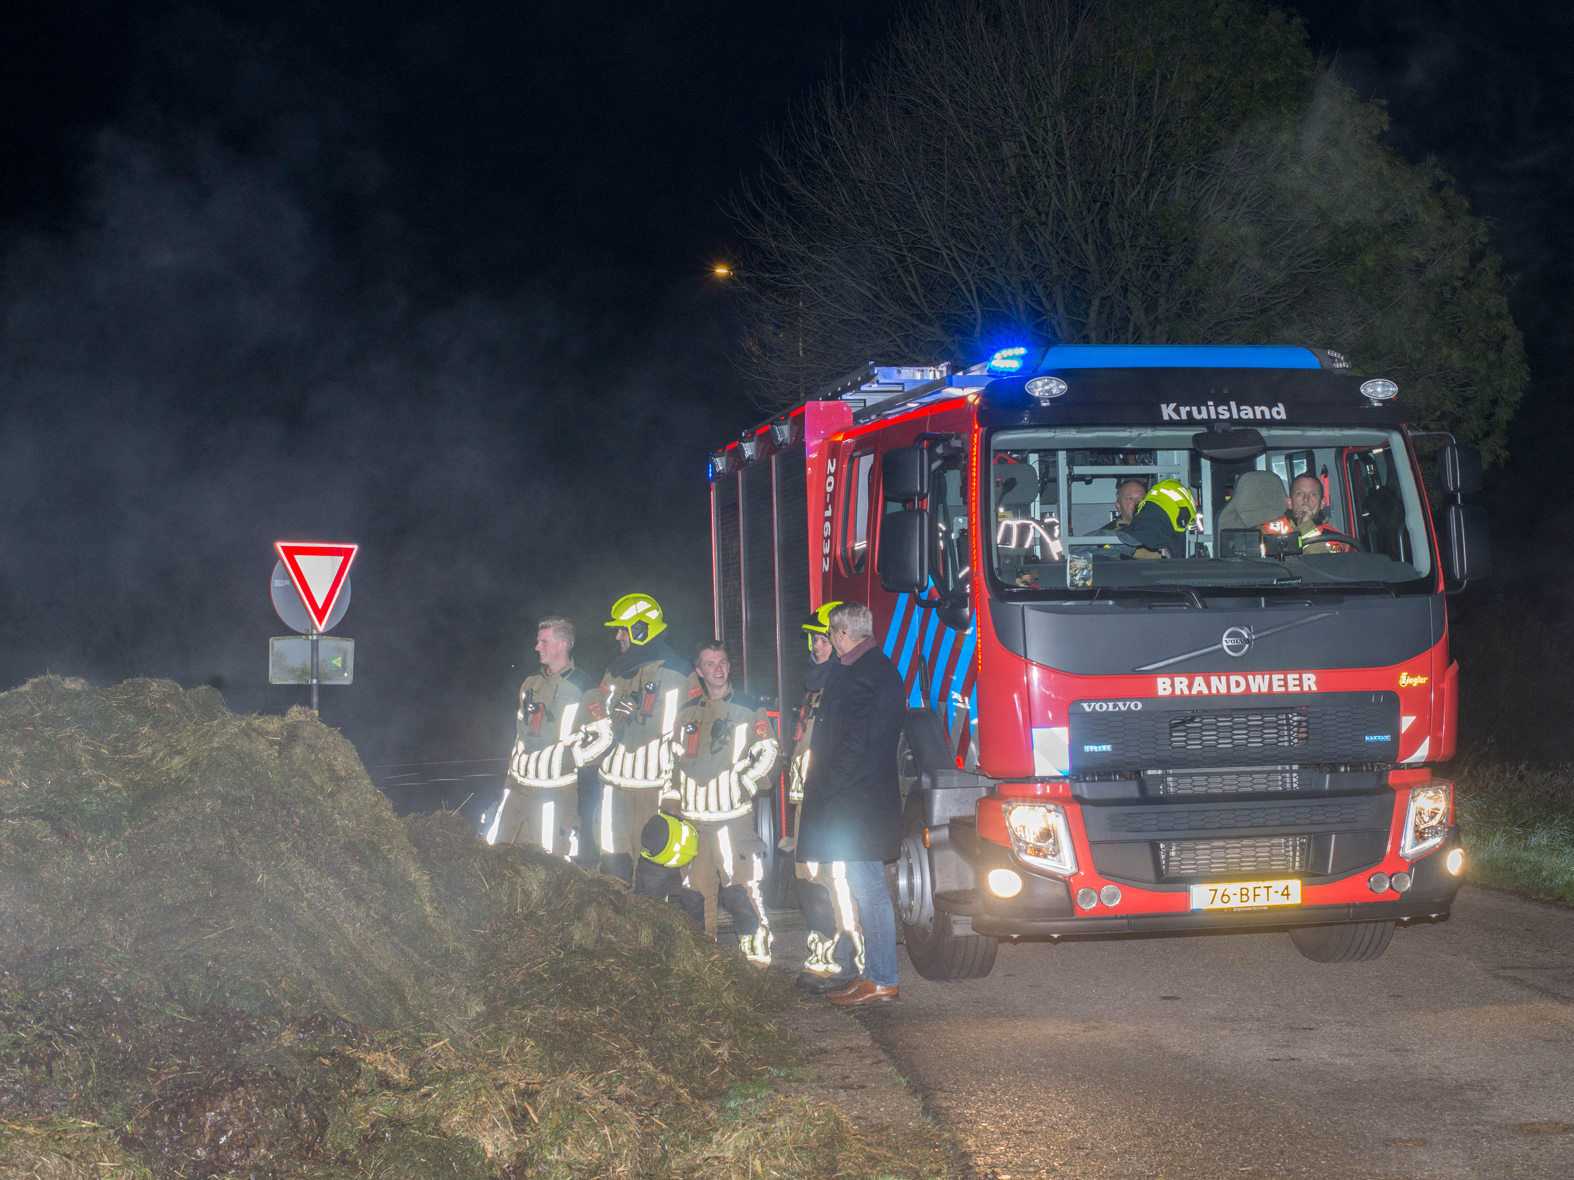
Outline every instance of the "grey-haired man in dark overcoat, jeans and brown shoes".
[[896, 914], [885, 862], [894, 861], [902, 845], [896, 750], [907, 700], [902, 677], [875, 650], [867, 606], [842, 603], [831, 610], [829, 625], [839, 667], [831, 669], [820, 697], [795, 853], [804, 864], [845, 865], [845, 887], [864, 927], [864, 969], [828, 997], [855, 1005], [897, 996]]

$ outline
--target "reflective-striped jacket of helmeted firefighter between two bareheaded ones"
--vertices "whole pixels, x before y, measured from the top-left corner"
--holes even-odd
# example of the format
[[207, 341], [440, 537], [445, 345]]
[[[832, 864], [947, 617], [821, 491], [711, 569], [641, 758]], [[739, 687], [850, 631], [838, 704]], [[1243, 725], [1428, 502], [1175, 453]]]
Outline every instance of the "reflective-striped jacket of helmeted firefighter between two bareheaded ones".
[[[671, 738], [677, 730], [678, 708], [689, 694], [699, 692], [693, 688], [693, 666], [672, 655], [672, 648], [660, 639], [647, 647], [658, 643], [650, 662], [628, 667], [628, 661], [614, 661], [601, 678], [612, 746], [601, 763], [601, 777], [615, 787], [661, 788], [669, 784]], [[636, 651], [631, 648], [625, 655], [634, 656]]]

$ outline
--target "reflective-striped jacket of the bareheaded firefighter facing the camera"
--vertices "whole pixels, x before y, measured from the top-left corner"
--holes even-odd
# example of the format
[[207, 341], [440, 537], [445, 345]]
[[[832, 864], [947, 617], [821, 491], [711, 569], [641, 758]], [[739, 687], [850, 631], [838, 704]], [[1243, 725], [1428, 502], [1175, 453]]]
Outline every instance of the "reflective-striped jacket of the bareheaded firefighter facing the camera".
[[748, 815], [776, 765], [776, 750], [771, 717], [760, 702], [732, 688], [713, 700], [700, 689], [678, 711], [672, 741], [677, 769], [661, 798], [677, 799], [685, 820]]

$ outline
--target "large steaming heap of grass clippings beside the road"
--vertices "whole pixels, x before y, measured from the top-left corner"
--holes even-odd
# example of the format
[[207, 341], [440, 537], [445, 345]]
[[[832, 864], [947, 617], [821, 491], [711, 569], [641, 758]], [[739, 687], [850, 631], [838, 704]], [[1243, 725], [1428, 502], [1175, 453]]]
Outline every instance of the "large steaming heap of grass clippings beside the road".
[[937, 1174], [776, 1093], [782, 1002], [672, 906], [400, 820], [304, 710], [0, 694], [0, 1175]]

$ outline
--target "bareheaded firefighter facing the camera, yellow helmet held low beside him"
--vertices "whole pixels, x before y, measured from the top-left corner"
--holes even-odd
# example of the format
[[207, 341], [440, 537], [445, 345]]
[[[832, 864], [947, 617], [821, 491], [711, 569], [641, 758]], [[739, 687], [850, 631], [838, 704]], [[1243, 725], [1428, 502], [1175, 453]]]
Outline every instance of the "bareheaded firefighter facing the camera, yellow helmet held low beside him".
[[760, 897], [765, 842], [754, 831], [754, 796], [770, 780], [778, 744], [765, 705], [737, 692], [730, 673], [726, 645], [700, 643], [700, 691], [678, 711], [675, 771], [663, 807], [694, 824], [699, 851], [686, 886], [704, 898], [705, 933], [716, 936], [719, 902], [743, 953], [763, 968], [771, 961], [771, 925]]

